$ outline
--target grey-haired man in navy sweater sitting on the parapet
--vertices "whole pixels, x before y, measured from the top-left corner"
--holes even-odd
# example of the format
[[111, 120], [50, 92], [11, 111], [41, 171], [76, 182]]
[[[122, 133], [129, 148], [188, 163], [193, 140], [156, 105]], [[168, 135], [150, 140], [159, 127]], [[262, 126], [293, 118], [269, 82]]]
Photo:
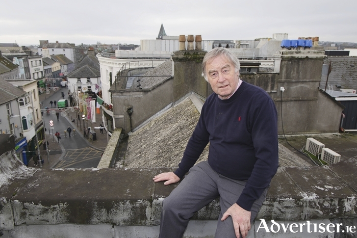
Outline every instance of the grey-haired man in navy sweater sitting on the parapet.
[[[195, 211], [220, 197], [215, 237], [245, 237], [278, 167], [277, 113], [259, 87], [239, 78], [239, 60], [215, 48], [202, 62], [214, 91], [175, 172], [156, 175], [168, 185], [185, 179], [164, 199], [159, 237], [182, 237]], [[194, 165], [210, 142], [208, 161]]]

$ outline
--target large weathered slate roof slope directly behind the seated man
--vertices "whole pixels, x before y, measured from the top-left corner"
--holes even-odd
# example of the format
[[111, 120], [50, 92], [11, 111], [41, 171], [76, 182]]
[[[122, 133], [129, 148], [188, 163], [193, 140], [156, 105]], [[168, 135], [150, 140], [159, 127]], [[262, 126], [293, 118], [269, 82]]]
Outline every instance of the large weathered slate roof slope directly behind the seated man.
[[[190, 97], [192, 97], [191, 94]], [[124, 168], [177, 167], [199, 118], [190, 97], [176, 104], [129, 136]], [[196, 97], [196, 96], [195, 96]], [[200, 98], [195, 103], [203, 103]], [[207, 160], [209, 146], [198, 162]], [[285, 146], [279, 144], [279, 166], [311, 166]]]

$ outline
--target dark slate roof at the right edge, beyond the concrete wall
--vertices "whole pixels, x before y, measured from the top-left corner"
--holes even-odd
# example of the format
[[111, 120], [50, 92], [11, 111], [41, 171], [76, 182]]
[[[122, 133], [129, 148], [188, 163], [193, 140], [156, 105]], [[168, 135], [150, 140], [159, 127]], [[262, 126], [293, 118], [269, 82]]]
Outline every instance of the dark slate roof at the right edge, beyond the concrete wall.
[[[329, 65], [331, 62], [331, 73], [328, 76], [328, 85], [333, 89], [356, 89], [357, 90], [357, 57], [353, 56], [329, 56], [323, 63]], [[325, 89], [327, 75], [321, 75], [320, 88]], [[336, 85], [341, 85], [338, 88]], [[326, 88], [328, 90], [328, 86]]]

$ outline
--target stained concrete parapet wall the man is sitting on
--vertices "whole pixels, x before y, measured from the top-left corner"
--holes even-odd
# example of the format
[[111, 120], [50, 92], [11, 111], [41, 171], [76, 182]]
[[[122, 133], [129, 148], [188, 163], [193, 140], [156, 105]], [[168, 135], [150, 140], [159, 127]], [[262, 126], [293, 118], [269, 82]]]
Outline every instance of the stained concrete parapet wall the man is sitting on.
[[[27, 237], [38, 237], [43, 230], [53, 234], [47, 237], [142, 237], [139, 234], [147, 232], [145, 237], [157, 237], [162, 200], [176, 187], [152, 181], [154, 175], [174, 168], [28, 171], [19, 166], [11, 150], [1, 156], [1, 165], [7, 176], [0, 187], [0, 232], [4, 237], [23, 237], [23, 232], [34, 234]], [[267, 224], [271, 220], [284, 224], [338, 221], [343, 226], [355, 226], [356, 166], [357, 157], [325, 167], [280, 167], [254, 229], [261, 225], [259, 219]], [[21, 168], [25, 172], [14, 176], [15, 168], [15, 172]], [[194, 228], [188, 229], [187, 236], [213, 237], [213, 233], [196, 231], [212, 227], [208, 224], [218, 218], [219, 212], [217, 199], [202, 208], [194, 215], [196, 221], [190, 223]], [[65, 229], [59, 231], [58, 227]], [[71, 229], [73, 233], [69, 234]], [[87, 235], [90, 230], [93, 233]], [[250, 232], [253, 236], [249, 237], [288, 237], [260, 231]], [[127, 232], [131, 235], [119, 235]], [[294, 232], [289, 237], [325, 237], [319, 232], [292, 235]]]

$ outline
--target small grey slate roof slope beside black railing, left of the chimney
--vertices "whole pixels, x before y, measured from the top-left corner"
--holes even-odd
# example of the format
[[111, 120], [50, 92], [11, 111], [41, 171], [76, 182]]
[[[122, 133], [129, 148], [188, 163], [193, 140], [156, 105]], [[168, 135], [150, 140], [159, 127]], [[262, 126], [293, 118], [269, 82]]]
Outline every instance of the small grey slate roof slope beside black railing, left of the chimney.
[[[160, 76], [160, 75], [166, 75], [166, 76]], [[144, 75], [140, 76], [140, 88], [150, 89], [156, 85], [159, 85], [162, 82], [164, 82], [167, 78], [171, 77], [167, 75], [173, 75], [171, 59], [162, 63], [158, 67], [155, 67], [147, 71]], [[150, 76], [150, 77], [145, 77], [145, 76]], [[135, 80], [133, 82], [132, 88], [137, 88], [137, 86], [138, 86], [138, 82], [137, 80]]]

